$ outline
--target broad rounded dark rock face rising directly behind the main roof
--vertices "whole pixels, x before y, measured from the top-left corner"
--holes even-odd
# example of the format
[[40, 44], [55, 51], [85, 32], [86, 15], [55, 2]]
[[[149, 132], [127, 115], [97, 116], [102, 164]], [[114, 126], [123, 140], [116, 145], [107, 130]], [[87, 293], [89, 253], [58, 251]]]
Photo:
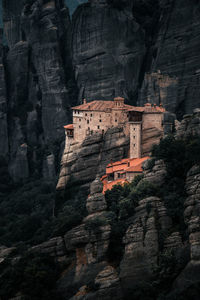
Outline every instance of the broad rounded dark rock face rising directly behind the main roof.
[[72, 26], [79, 101], [120, 95], [133, 103], [145, 44], [131, 9], [91, 1], [77, 9]]

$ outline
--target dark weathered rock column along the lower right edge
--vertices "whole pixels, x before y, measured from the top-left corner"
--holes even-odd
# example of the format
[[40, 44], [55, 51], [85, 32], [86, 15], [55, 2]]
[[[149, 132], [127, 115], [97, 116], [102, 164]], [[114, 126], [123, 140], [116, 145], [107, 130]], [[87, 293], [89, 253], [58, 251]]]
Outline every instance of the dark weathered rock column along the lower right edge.
[[181, 272], [174, 283], [172, 293], [175, 295], [193, 294], [198, 299], [198, 292], [195, 289], [200, 283], [200, 166], [192, 167], [186, 180], [186, 191], [188, 198], [185, 201], [185, 223], [188, 226], [190, 261]]

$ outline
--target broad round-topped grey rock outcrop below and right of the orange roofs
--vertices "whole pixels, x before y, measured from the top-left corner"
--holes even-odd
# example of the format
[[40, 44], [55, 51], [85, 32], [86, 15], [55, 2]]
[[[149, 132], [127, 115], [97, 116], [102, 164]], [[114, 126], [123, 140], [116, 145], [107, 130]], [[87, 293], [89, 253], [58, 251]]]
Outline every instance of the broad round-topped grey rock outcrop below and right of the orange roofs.
[[124, 237], [120, 278], [125, 293], [153, 281], [161, 248], [159, 235], [161, 231], [167, 232], [171, 225], [161, 199], [150, 197], [139, 202]]

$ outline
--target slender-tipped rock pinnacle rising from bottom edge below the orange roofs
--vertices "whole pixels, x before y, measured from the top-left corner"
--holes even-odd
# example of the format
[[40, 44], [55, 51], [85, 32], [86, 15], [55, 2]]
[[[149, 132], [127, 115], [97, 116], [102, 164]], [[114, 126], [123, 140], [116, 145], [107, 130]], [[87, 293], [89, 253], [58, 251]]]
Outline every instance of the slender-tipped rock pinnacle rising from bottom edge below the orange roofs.
[[[103, 185], [97, 176], [87, 199], [88, 216], [64, 237], [67, 252], [75, 256], [71, 269], [59, 280], [58, 288], [66, 297], [72, 291], [70, 299], [73, 300], [122, 297], [117, 270], [106, 261], [111, 226], [102, 191]], [[72, 289], [73, 286], [76, 288]]]

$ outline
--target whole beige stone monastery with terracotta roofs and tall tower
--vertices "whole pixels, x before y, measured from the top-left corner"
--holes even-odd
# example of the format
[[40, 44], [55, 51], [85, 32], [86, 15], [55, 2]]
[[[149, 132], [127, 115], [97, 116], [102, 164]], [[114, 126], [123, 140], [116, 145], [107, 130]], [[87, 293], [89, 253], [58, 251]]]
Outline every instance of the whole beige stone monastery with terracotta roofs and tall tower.
[[72, 143], [81, 144], [87, 136], [105, 134], [112, 127], [123, 127], [125, 135], [130, 137], [129, 158], [107, 166], [106, 175], [102, 178], [104, 191], [118, 182], [130, 182], [142, 173], [142, 164], [149, 159], [143, 151], [145, 135], [149, 129], [159, 133], [155, 143], [159, 142], [166, 129], [172, 129], [172, 123], [168, 122], [169, 118], [165, 118], [167, 112], [162, 105], [147, 103], [144, 107], [134, 107], [125, 104], [121, 97], [113, 101], [96, 100], [89, 103], [84, 100], [82, 105], [72, 107], [72, 111], [73, 124], [64, 126], [66, 150]]

